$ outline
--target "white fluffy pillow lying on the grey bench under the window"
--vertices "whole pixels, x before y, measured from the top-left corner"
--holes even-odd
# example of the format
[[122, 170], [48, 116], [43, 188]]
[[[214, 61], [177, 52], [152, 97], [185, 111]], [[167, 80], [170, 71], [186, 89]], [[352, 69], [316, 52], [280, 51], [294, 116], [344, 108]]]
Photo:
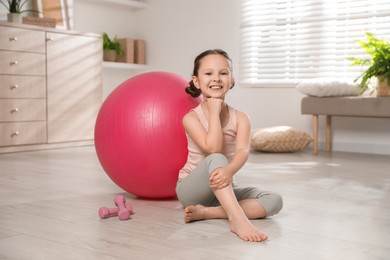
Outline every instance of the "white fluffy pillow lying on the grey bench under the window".
[[359, 84], [346, 79], [316, 78], [301, 82], [296, 89], [313, 97], [358, 96]]

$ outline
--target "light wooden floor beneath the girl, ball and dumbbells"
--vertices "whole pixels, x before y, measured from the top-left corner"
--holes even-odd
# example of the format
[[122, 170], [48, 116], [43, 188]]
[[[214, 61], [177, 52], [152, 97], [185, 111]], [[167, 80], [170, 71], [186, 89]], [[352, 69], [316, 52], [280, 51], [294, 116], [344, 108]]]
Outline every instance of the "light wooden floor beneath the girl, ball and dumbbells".
[[[93, 147], [2, 154], [0, 259], [390, 259], [390, 156], [253, 153], [237, 182], [283, 195], [279, 215], [253, 222], [267, 242], [123, 193]], [[121, 193], [132, 219], [101, 220]]]

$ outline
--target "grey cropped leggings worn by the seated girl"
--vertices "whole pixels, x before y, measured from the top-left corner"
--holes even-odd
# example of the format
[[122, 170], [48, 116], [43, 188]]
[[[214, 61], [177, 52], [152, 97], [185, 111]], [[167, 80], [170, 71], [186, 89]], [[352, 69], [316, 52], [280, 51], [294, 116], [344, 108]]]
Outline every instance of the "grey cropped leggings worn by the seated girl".
[[[187, 177], [179, 180], [176, 194], [184, 207], [201, 204], [206, 207], [219, 206], [219, 202], [210, 188], [210, 174], [217, 168], [225, 167], [229, 161], [223, 154], [207, 156]], [[283, 207], [279, 194], [262, 191], [256, 187], [238, 187], [233, 183], [233, 191], [238, 201], [255, 199], [264, 207], [267, 216], [277, 214]]]

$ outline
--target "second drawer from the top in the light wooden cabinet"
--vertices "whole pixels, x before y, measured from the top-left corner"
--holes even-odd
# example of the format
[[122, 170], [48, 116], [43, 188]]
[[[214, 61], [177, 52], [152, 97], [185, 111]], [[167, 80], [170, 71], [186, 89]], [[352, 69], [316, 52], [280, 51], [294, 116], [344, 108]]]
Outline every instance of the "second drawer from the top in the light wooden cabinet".
[[45, 54], [0, 51], [0, 73], [45, 76]]

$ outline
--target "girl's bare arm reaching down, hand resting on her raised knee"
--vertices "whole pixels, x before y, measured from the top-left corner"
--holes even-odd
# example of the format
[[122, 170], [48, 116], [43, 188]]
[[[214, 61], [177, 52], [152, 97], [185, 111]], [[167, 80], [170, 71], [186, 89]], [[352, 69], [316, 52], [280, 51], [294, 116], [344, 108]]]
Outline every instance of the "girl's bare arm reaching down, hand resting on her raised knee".
[[250, 150], [250, 120], [249, 117], [240, 111], [237, 115], [237, 138], [236, 150], [232, 161], [224, 168], [213, 172], [210, 176], [210, 186], [215, 189], [222, 189], [233, 180], [233, 175], [246, 163]]

